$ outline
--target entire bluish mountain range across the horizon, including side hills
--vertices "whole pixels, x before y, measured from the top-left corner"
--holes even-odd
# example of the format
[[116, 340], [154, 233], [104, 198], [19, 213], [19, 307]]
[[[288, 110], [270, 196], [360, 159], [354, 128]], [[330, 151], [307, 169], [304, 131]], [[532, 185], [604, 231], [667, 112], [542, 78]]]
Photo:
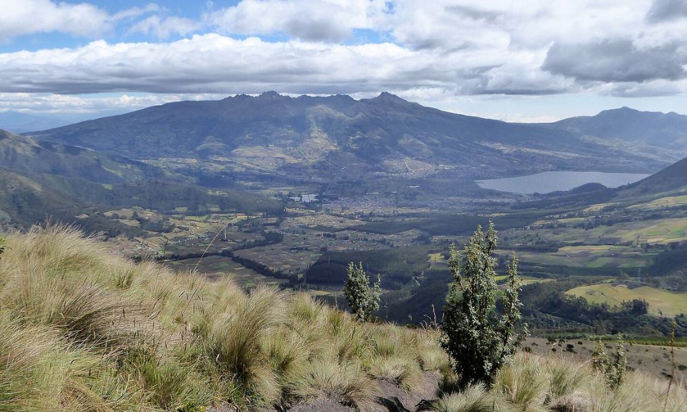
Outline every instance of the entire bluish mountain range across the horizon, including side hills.
[[[510, 174], [655, 172], [687, 156], [686, 136], [687, 116], [630, 108], [513, 124], [390, 93], [174, 102], [23, 136], [0, 131], [0, 220], [25, 225], [38, 214], [76, 216], [90, 205], [279, 213], [277, 201], [240, 190], [258, 183], [412, 181], [449, 196], [473, 179]], [[681, 190], [685, 176], [687, 160], [613, 194], [592, 186], [581, 192]]]

